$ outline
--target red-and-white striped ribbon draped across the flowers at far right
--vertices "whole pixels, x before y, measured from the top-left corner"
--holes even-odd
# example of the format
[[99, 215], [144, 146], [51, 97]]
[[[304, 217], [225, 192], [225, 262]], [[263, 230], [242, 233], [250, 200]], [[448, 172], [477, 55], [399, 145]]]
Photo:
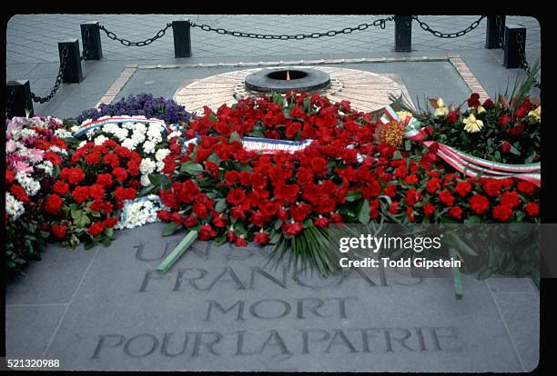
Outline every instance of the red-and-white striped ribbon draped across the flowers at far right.
[[[400, 122], [399, 115], [390, 107], [385, 107], [384, 114], [380, 118], [382, 124], [390, 122]], [[429, 152], [426, 158], [429, 162], [434, 162], [439, 156], [446, 163], [451, 164], [456, 170], [465, 173], [468, 176], [485, 176], [494, 179], [517, 178], [533, 183], [540, 187], [542, 185], [542, 164], [508, 164], [488, 161], [486, 159], [475, 157], [469, 153], [461, 152], [444, 143], [435, 143], [432, 141], [423, 141], [423, 138], [433, 132], [430, 125], [421, 127], [421, 124], [412, 116], [406, 116], [402, 124], [405, 125], [404, 135], [412, 140], [424, 143]]]

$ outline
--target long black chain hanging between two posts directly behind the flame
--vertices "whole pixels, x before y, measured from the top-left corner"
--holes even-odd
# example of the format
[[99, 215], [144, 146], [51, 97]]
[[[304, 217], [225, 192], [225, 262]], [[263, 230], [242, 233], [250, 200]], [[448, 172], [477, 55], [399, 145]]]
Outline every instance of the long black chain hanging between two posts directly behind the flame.
[[297, 40], [301, 40], [301, 39], [306, 39], [306, 38], [314, 38], [315, 39], [315, 38], [320, 38], [322, 36], [335, 36], [335, 35], [339, 35], [339, 34], [350, 34], [350, 33], [355, 32], [355, 31], [366, 30], [370, 26], [380, 27], [381, 29], [384, 29], [385, 24], [388, 21], [392, 21], [392, 20], [394, 20], [394, 15], [390, 15], [387, 18], [380, 18], [378, 20], [373, 21], [370, 24], [360, 24], [360, 25], [355, 26], [355, 27], [345, 27], [342, 30], [329, 30], [327, 32], [322, 32], [322, 33], [296, 34], [296, 35], [287, 35], [287, 34], [274, 35], [274, 34], [244, 33], [244, 32], [238, 32], [238, 31], [230, 31], [230, 30], [223, 29], [223, 28], [215, 28], [215, 27], [205, 25], [205, 24], [197, 25], [196, 23], [193, 23], [193, 22], [190, 22], [189, 25], [191, 25], [191, 27], [197, 27], [201, 30], [208, 31], [208, 32], [215, 32], [215, 33], [221, 34], [221, 35], [238, 36], [238, 37], [242, 37], [242, 38], [279, 39], [279, 40], [297, 39]]

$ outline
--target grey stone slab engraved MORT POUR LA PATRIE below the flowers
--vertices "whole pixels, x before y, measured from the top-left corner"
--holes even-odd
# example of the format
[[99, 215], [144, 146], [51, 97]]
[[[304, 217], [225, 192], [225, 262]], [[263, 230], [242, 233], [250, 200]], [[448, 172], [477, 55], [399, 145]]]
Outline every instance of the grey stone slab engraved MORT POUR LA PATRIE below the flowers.
[[[116, 233], [111, 247], [92, 254], [46, 359], [66, 371], [530, 371], [537, 364], [532, 292], [492, 292], [465, 277], [457, 301], [446, 279], [393, 271], [323, 279], [266, 267], [269, 248], [210, 242], [196, 242], [158, 275], [158, 262], [183, 236], [162, 238], [162, 228]], [[80, 264], [59, 263], [49, 274]], [[48, 269], [35, 265], [34, 273]], [[51, 277], [46, 288], [58, 281]], [[31, 285], [17, 293], [37, 301]], [[8, 315], [8, 355], [32, 341], [18, 321], [36, 314]]]

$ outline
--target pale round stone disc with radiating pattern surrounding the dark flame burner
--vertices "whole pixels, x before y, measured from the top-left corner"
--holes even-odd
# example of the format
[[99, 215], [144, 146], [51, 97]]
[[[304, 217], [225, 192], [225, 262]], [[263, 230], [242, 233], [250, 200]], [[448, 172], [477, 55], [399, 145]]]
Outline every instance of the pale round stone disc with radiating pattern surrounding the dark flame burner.
[[[330, 75], [329, 88], [319, 90], [333, 102], [348, 100], [360, 111], [374, 113], [385, 105], [392, 104], [392, 98], [400, 99], [400, 85], [389, 77], [358, 69], [332, 66], [304, 66], [317, 69]], [[303, 67], [292, 66], [291, 69]], [[261, 71], [262, 68], [238, 70], [224, 74], [215, 74], [180, 87], [174, 100], [183, 104], [190, 111], [202, 112], [203, 106], [216, 110], [221, 104], [232, 105], [236, 98], [247, 95], [258, 96], [260, 93], [249, 91], [244, 84], [248, 74]], [[273, 68], [271, 68], [273, 69]], [[287, 69], [287, 67], [281, 67]]]

